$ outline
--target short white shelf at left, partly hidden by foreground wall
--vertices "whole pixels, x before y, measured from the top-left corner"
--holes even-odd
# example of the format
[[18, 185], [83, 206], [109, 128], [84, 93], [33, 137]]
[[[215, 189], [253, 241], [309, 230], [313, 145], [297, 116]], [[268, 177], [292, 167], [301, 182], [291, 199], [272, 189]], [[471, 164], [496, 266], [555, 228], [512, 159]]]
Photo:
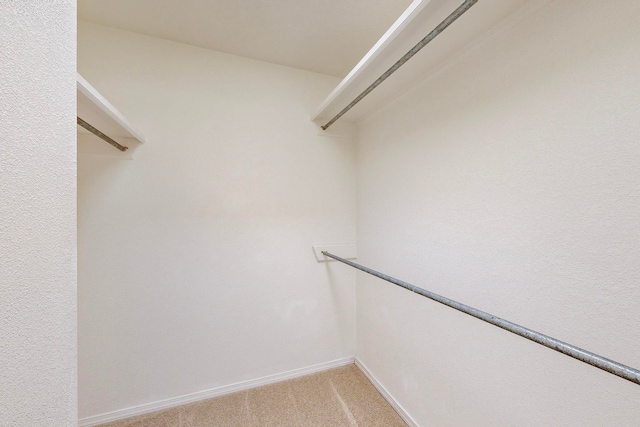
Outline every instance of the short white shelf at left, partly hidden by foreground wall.
[[144, 136], [87, 82], [77, 74], [78, 117], [91, 124], [119, 144], [129, 147], [121, 152], [86, 129], [78, 126], [78, 153], [131, 158], [133, 151], [145, 142]]

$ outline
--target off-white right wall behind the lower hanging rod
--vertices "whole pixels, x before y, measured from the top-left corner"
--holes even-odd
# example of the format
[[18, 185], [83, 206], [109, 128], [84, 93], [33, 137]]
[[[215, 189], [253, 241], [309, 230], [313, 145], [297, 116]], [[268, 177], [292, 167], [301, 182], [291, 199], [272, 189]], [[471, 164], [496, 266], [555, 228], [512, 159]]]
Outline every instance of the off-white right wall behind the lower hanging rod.
[[[359, 262], [640, 367], [639, 15], [549, 2], [362, 122]], [[356, 356], [419, 425], [638, 425], [637, 385], [357, 282]]]

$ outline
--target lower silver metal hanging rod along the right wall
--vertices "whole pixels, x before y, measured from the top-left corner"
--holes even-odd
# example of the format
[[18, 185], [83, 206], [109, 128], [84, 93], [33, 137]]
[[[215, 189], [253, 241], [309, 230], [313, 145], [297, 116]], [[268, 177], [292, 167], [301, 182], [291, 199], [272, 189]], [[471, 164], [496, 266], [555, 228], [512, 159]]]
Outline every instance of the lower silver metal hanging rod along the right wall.
[[330, 254], [329, 252], [323, 251], [322, 254], [328, 256], [329, 258], [333, 258], [336, 261], [340, 261], [344, 264], [350, 265], [353, 268], [357, 268], [360, 271], [364, 271], [365, 273], [376, 276], [382, 280], [386, 280], [389, 283], [393, 283], [394, 285], [398, 285], [402, 288], [408, 289], [412, 292], [417, 293], [418, 295], [422, 295], [423, 297], [427, 297], [433, 301], [439, 302], [440, 304], [444, 304], [447, 307], [455, 308], [456, 310], [473, 316], [477, 319], [484, 320], [485, 322], [490, 323], [494, 326], [512, 332], [516, 335], [520, 335], [521, 337], [537, 342], [538, 344], [542, 344], [543, 346], [548, 347], [552, 350], [559, 351], [560, 353], [566, 354], [567, 356], [573, 357], [574, 359], [578, 359], [581, 362], [588, 363], [589, 365], [600, 368], [603, 371], [609, 372], [610, 374], [617, 375], [620, 378], [624, 378], [625, 380], [640, 384], [640, 371], [630, 366], [623, 365], [622, 363], [618, 363], [611, 359], [607, 359], [606, 357], [591, 353], [590, 351], [584, 350], [580, 347], [576, 347], [575, 345], [568, 344], [548, 335], [541, 334], [540, 332], [525, 328], [524, 326], [509, 322], [508, 320], [501, 319], [500, 317], [478, 310], [477, 308], [473, 308], [452, 299], [434, 294], [433, 292], [419, 288], [410, 283], [403, 282], [402, 280], [398, 280], [360, 264], [356, 264], [355, 262], [351, 262], [344, 258], [340, 258], [339, 256]]

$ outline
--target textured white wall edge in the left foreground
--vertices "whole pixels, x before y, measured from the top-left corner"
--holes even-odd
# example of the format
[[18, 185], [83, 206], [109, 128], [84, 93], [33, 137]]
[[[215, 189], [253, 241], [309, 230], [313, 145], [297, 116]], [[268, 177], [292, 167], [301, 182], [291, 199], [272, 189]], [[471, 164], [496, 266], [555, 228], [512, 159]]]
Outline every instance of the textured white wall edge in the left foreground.
[[0, 6], [0, 426], [77, 420], [75, 38], [75, 1]]

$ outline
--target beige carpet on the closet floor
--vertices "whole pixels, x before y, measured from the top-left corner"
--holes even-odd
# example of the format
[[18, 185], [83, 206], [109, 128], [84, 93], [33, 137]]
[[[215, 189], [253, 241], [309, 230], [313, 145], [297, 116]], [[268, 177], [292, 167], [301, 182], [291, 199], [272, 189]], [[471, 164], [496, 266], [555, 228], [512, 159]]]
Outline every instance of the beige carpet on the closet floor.
[[263, 427], [406, 424], [355, 365], [228, 394], [103, 427]]

